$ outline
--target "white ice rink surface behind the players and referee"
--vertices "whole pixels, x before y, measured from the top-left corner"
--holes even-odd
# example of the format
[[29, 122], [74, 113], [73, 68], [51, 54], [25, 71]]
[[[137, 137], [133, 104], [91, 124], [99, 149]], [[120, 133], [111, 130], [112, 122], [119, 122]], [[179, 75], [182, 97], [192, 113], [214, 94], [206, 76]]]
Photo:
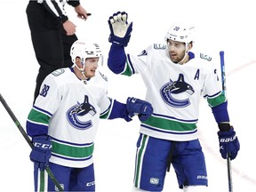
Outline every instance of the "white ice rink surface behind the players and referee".
[[[227, 3], [226, 3], [227, 2]], [[254, 1], [85, 1], [81, 0], [92, 16], [78, 20], [73, 8], [68, 7], [69, 19], [76, 23], [78, 38], [100, 44], [105, 54], [100, 68], [108, 76], [108, 94], [125, 102], [128, 96], [143, 99], [145, 87], [140, 76], [128, 79], [115, 76], [107, 68], [108, 17], [117, 11], [128, 12], [133, 21], [131, 41], [126, 52], [140, 53], [149, 44], [163, 43], [173, 22], [187, 22], [196, 26], [195, 50], [212, 55], [219, 65], [219, 52], [225, 51], [228, 110], [240, 140], [241, 149], [232, 161], [234, 192], [256, 191], [255, 151], [255, 87], [256, 82], [256, 12]], [[1, 70], [0, 93], [12, 108], [25, 129], [28, 112], [32, 107], [38, 70], [26, 16], [26, 0], [0, 0]], [[103, 5], [104, 4], [104, 5]], [[209, 53], [208, 53], [209, 52]], [[1, 191], [33, 191], [33, 164], [30, 148], [18, 128], [0, 104], [0, 146], [2, 181]], [[140, 122], [101, 120], [95, 139], [94, 164], [98, 192], [131, 192], [136, 141]], [[217, 124], [211, 109], [202, 99], [198, 122], [199, 137], [209, 177], [211, 192], [228, 191], [227, 164], [219, 153]], [[181, 192], [173, 169], [167, 173], [164, 192]]]

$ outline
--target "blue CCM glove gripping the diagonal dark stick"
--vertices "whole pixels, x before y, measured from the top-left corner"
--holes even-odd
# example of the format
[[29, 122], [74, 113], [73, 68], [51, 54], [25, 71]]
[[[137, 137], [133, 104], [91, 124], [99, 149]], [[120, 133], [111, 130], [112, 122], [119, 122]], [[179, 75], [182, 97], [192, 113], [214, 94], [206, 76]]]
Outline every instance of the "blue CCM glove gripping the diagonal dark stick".
[[52, 153], [52, 140], [49, 136], [36, 136], [32, 139], [34, 147], [30, 153], [30, 160], [40, 171], [44, 171], [49, 164]]

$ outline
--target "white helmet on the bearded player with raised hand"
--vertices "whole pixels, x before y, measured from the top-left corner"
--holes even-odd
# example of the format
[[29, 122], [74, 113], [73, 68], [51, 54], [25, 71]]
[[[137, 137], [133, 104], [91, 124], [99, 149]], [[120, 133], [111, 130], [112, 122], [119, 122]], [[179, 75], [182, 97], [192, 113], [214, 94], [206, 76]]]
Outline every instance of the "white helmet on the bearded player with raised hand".
[[171, 39], [172, 41], [183, 42], [188, 45], [190, 42], [193, 43], [192, 30], [194, 27], [182, 26], [179, 24], [172, 25], [165, 36], [166, 40]]

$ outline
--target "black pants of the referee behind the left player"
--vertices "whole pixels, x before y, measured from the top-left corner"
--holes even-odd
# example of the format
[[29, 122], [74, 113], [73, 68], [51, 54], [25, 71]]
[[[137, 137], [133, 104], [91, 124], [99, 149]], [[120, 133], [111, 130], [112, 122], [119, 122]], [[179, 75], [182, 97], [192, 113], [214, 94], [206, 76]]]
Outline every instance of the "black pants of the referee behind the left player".
[[76, 35], [67, 36], [60, 20], [54, 18], [52, 13], [44, 8], [44, 4], [29, 1], [26, 13], [36, 60], [40, 65], [36, 77], [35, 102], [40, 86], [47, 75], [57, 68], [73, 65], [70, 48], [77, 37]]

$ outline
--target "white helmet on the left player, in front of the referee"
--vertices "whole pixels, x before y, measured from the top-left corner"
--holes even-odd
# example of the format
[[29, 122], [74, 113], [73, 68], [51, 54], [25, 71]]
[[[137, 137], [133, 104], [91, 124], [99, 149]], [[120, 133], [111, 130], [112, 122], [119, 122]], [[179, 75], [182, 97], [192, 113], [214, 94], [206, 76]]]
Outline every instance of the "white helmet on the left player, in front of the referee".
[[74, 42], [74, 44], [72, 44], [71, 46], [70, 56], [71, 56], [72, 62], [75, 65], [76, 65], [77, 57], [81, 59], [81, 62], [84, 65], [85, 60], [87, 58], [95, 58], [95, 57], [101, 58], [102, 52], [98, 44], [85, 43], [85, 41], [83, 40], [76, 40], [76, 42]]

